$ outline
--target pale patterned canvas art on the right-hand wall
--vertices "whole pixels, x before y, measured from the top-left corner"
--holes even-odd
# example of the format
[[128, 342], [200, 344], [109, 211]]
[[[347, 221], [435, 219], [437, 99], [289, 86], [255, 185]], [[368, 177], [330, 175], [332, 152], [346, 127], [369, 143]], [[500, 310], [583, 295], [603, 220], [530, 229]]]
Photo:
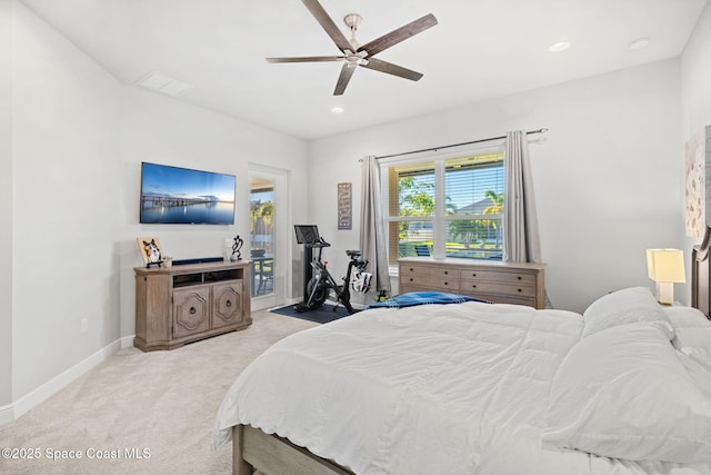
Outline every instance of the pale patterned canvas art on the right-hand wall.
[[702, 237], [711, 217], [711, 126], [704, 127], [685, 144], [687, 236]]

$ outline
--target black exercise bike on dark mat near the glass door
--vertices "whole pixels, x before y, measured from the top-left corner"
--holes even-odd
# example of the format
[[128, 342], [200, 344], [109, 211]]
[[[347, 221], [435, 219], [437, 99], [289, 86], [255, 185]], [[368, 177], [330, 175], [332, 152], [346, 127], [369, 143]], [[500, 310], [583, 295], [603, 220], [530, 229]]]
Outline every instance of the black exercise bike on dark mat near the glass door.
[[[346, 254], [351, 258], [351, 260], [348, 263], [348, 271], [346, 273], [346, 277], [343, 277], [343, 285], [338, 285], [336, 279], [331, 276], [331, 273], [329, 273], [329, 269], [326, 267], [328, 261], [321, 260], [323, 248], [330, 247], [331, 245], [324, 241], [323, 238], [319, 238], [318, 241], [310, 246], [319, 249], [318, 257], [311, 263], [311, 266], [313, 267], [313, 277], [311, 277], [307, 284], [308, 298], [306, 301], [297, 305], [294, 309], [297, 311], [314, 310], [321, 307], [329, 295], [333, 293], [336, 301], [343, 304], [343, 307], [346, 307], [348, 313], [352, 314], [356, 310], [353, 310], [353, 307], [351, 306], [351, 291], [349, 288], [351, 274], [353, 271], [353, 267], [357, 268], [358, 271], [364, 270], [368, 266], [368, 260], [360, 258], [360, 250], [347, 250]], [[337, 307], [333, 307], [334, 311], [336, 308]]]

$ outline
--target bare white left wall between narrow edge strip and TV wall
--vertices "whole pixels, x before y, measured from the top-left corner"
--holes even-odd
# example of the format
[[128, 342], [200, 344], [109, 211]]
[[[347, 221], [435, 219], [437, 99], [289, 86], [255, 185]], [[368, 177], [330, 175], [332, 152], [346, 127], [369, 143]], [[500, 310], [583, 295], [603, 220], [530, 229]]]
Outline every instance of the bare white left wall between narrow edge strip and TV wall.
[[19, 2], [14, 18], [12, 393], [18, 399], [119, 337], [120, 88]]

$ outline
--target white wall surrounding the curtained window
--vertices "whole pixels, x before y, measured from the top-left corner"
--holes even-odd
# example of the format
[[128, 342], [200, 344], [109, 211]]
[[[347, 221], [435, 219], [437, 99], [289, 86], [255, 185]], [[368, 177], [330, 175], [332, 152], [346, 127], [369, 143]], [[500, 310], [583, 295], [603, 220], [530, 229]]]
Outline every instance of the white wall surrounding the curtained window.
[[[645, 248], [682, 244], [679, 88], [668, 60], [312, 142], [311, 174], [326, 186], [310, 187], [309, 207], [334, 244], [333, 268], [359, 245], [360, 157], [547, 127], [530, 150], [553, 305], [583, 310], [611, 290], [651, 288]], [[352, 231], [337, 230], [339, 181], [353, 181]]]

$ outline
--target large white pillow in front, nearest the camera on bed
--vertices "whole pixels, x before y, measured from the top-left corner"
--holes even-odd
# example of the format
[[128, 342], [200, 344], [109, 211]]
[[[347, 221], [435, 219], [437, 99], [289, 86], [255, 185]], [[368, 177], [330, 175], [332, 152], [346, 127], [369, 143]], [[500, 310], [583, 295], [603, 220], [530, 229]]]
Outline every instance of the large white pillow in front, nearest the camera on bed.
[[608, 328], [563, 358], [543, 446], [630, 461], [711, 463], [710, 396], [659, 329], [643, 323]]

